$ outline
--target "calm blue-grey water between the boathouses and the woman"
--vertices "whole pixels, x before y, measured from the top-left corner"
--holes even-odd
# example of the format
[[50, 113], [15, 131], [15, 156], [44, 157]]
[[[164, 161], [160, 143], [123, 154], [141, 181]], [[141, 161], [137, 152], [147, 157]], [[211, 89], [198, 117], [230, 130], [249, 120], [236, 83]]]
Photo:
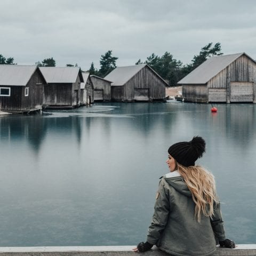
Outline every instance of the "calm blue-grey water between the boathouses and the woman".
[[227, 236], [256, 243], [256, 105], [106, 103], [0, 117], [0, 246], [146, 239], [167, 148], [206, 140]]

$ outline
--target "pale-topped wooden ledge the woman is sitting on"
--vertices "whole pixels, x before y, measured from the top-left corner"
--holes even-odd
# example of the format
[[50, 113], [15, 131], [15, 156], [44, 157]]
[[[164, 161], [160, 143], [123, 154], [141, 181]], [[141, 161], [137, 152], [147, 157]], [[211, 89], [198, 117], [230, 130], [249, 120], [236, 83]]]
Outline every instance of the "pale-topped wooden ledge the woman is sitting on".
[[[133, 252], [135, 246], [42, 246], [0, 247], [0, 256], [170, 256], [153, 247], [147, 252]], [[213, 256], [255, 256], [256, 244], [238, 244], [235, 249], [217, 248]]]

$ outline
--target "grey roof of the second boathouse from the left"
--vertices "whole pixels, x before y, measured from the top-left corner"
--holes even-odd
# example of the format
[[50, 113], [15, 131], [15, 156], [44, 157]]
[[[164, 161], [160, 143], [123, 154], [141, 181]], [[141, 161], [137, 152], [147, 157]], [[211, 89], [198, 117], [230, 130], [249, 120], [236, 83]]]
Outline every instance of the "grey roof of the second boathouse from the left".
[[[39, 69], [47, 83], [75, 83], [81, 73], [79, 67], [39, 67]], [[80, 76], [82, 79], [82, 75]]]

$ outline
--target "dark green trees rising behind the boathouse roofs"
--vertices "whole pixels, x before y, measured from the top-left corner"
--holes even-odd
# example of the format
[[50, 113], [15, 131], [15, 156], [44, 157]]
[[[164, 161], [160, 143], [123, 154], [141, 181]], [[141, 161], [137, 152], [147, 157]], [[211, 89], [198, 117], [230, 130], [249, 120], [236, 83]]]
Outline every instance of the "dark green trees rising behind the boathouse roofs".
[[[162, 56], [158, 56], [155, 53], [152, 53], [145, 61], [139, 59], [135, 65], [147, 64], [153, 68], [169, 86], [177, 85], [177, 82], [180, 81], [183, 77], [188, 75], [192, 70], [201, 65], [205, 60], [215, 55], [222, 55], [220, 43], [209, 43], [202, 47], [201, 51], [194, 55], [194, 58], [189, 64], [183, 65], [180, 60], [177, 60], [173, 57], [170, 52], [165, 52]], [[100, 68], [97, 69], [94, 67], [94, 63], [91, 63], [90, 69], [87, 70], [91, 75], [96, 75], [99, 77], [105, 77], [113, 69], [116, 68], [116, 61], [118, 57], [114, 57], [112, 51], [107, 51], [105, 54], [102, 54], [100, 57]], [[12, 57], [5, 58], [0, 54], [0, 64], [14, 65], [14, 59]], [[55, 67], [56, 62], [51, 58], [44, 59], [43, 61], [38, 61], [35, 63], [39, 67]], [[67, 64], [67, 67], [78, 67], [77, 63]]]

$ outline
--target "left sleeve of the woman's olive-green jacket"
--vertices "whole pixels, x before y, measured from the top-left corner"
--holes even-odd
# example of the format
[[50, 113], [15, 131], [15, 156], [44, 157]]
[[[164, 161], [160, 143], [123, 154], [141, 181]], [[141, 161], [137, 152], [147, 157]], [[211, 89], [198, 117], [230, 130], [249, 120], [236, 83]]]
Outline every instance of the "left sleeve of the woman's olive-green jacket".
[[154, 209], [155, 211], [151, 225], [148, 228], [147, 236], [147, 242], [150, 244], [157, 243], [166, 226], [170, 211], [169, 196], [165, 194], [163, 179], [159, 182]]

